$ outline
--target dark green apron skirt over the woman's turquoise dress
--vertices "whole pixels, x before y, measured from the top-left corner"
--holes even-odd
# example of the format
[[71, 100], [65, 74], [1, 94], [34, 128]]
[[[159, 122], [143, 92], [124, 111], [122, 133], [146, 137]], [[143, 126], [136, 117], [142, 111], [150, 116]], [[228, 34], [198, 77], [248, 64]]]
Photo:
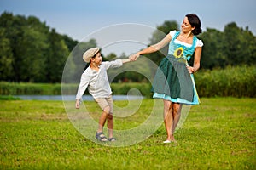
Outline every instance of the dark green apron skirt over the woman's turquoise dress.
[[172, 99], [182, 99], [193, 102], [195, 85], [183, 59], [168, 55], [162, 59], [157, 69], [152, 92], [165, 94]]

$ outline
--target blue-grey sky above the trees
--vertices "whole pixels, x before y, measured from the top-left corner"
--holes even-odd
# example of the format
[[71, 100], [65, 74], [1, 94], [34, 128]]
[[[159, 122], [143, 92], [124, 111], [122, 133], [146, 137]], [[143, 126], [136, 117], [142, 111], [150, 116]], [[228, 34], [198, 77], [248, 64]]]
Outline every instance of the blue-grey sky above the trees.
[[132, 54], [146, 47], [166, 20], [185, 14], [201, 19], [202, 31], [224, 30], [230, 22], [256, 35], [255, 0], [0, 0], [0, 13], [36, 16], [79, 42], [95, 38], [102, 52]]

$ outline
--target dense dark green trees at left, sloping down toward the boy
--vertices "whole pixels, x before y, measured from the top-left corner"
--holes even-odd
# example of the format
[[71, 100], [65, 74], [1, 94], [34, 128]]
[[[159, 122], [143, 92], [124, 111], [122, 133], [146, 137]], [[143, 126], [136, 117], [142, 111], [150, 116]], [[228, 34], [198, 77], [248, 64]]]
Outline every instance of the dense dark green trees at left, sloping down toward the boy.
[[36, 17], [4, 12], [0, 16], [0, 80], [61, 82], [67, 56], [76, 44]]

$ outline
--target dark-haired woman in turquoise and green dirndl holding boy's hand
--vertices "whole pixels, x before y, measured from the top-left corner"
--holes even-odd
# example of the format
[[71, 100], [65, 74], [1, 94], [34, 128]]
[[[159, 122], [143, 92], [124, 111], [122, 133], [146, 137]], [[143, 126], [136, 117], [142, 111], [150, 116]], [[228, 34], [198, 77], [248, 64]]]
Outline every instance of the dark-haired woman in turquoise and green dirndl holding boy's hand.
[[[195, 37], [201, 33], [201, 21], [196, 14], [187, 14], [181, 31], [170, 31], [160, 42], [131, 55], [136, 60], [142, 54], [151, 54], [169, 43], [168, 55], [162, 59], [156, 71], [153, 92], [154, 98], [164, 101], [164, 122], [167, 139], [164, 143], [175, 142], [173, 133], [179, 121], [182, 105], [198, 105], [193, 73], [200, 68], [203, 43]], [[188, 60], [194, 54], [193, 66]]]

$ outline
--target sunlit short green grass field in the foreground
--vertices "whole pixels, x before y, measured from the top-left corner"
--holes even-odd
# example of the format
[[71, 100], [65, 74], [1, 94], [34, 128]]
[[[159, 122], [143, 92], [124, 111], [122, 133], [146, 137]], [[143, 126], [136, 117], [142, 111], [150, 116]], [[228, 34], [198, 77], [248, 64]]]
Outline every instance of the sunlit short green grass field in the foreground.
[[[143, 100], [144, 112], [152, 101]], [[176, 132], [177, 144], [162, 143], [162, 125], [141, 143], [108, 147], [84, 138], [61, 101], [3, 100], [0, 169], [255, 169], [255, 104], [256, 99], [203, 98]], [[94, 102], [89, 105], [98, 111]], [[119, 119], [115, 124], [128, 126]]]

